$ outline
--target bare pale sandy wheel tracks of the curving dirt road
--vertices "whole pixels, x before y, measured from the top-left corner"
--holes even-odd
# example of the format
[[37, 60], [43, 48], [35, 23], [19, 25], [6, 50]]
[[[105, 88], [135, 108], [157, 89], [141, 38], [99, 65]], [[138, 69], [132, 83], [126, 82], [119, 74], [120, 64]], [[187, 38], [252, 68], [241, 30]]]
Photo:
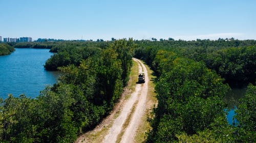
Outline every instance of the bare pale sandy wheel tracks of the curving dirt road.
[[[133, 60], [139, 63], [139, 71], [145, 72], [145, 83], [136, 84], [135, 92], [132, 93], [129, 100], [127, 100], [127, 102], [124, 103], [120, 115], [118, 116], [118, 118], [115, 119], [113, 126], [109, 130], [109, 133], [104, 137], [104, 143], [116, 142], [117, 137], [122, 130], [125, 131], [121, 137], [121, 142], [133, 142], [136, 130], [140, 123], [140, 119], [143, 116], [143, 113], [145, 112], [145, 103], [148, 89], [147, 84], [149, 81], [147, 76], [147, 70], [145, 65], [141, 61], [134, 58]], [[135, 104], [136, 101], [138, 101], [137, 104]], [[129, 122], [129, 125], [126, 129], [123, 129], [123, 124], [125, 123], [127, 117], [131, 113], [131, 110], [134, 105], [136, 105], [136, 107]]]

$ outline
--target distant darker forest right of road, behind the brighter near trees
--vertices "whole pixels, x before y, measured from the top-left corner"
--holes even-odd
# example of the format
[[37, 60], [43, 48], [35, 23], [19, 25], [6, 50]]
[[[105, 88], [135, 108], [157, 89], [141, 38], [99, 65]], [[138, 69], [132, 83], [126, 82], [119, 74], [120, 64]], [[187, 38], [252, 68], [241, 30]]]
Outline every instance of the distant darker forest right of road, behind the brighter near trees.
[[216, 70], [229, 85], [247, 85], [256, 79], [256, 49], [254, 40], [197, 40], [197, 41], [136, 41], [135, 57], [154, 67], [159, 50], [172, 51], [178, 56], [202, 61]]

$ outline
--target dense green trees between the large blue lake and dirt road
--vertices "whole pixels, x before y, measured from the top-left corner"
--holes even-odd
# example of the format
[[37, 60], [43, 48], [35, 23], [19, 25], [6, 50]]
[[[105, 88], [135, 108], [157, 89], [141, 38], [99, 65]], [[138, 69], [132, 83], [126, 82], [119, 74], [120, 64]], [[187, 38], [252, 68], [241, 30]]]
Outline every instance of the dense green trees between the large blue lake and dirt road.
[[63, 75], [35, 99], [10, 95], [0, 106], [0, 142], [73, 142], [93, 129], [122, 94], [133, 47], [132, 39], [123, 39], [105, 49], [77, 48], [95, 53], [82, 56], [78, 66], [59, 65]]

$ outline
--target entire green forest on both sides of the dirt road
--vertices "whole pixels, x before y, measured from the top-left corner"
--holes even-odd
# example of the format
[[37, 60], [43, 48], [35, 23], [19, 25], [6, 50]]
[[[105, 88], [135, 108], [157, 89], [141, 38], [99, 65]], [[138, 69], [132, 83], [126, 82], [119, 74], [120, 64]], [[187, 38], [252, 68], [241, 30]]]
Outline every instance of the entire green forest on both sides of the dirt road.
[[[1, 99], [0, 142], [73, 142], [93, 129], [118, 101], [129, 79], [133, 56], [157, 75], [158, 105], [148, 119], [146, 142], [255, 142], [256, 41], [49, 41], [16, 48], [55, 52], [45, 69], [62, 76], [35, 98]], [[223, 97], [247, 86], [226, 120]]]

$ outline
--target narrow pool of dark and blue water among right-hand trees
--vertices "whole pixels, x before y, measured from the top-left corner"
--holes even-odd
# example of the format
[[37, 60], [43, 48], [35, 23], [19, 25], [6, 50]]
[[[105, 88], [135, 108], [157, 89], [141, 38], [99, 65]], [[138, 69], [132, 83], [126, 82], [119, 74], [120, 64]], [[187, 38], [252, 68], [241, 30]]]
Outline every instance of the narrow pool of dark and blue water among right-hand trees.
[[237, 120], [233, 120], [233, 116], [235, 115], [234, 110], [237, 109], [239, 105], [239, 99], [244, 97], [246, 92], [246, 88], [233, 88], [231, 91], [224, 97], [223, 101], [228, 105], [228, 115], [227, 121], [230, 125], [237, 123]]

